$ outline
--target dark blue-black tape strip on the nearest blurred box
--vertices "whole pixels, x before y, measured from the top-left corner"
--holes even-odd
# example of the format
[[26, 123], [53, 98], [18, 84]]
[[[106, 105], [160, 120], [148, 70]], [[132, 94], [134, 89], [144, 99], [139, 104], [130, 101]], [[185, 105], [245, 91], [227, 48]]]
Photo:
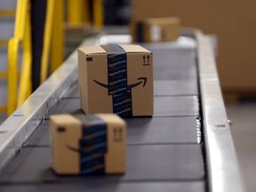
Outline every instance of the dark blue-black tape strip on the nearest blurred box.
[[107, 123], [97, 116], [76, 116], [82, 124], [79, 140], [80, 173], [105, 174], [105, 155], [108, 150]]

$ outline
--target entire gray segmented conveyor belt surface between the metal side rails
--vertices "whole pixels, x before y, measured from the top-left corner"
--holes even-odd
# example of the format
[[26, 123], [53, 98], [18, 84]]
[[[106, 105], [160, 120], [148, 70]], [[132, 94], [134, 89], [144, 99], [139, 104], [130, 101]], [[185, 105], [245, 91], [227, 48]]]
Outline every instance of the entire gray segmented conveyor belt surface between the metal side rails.
[[[49, 120], [46, 120], [26, 142], [12, 164], [6, 167], [1, 182], [19, 183], [22, 186], [26, 183], [36, 185], [56, 182], [58, 186], [73, 182], [85, 185], [84, 182], [94, 181], [101, 186], [98, 186], [99, 191], [106, 191], [104, 186], [108, 183], [112, 185], [108, 184], [109, 190], [118, 184], [124, 191], [128, 188], [148, 191], [147, 188], [141, 187], [148, 184], [155, 185], [155, 190], [178, 188], [178, 183], [182, 183], [179, 190], [186, 188], [186, 191], [195, 191], [195, 188], [197, 192], [204, 191], [205, 171], [200, 142], [196, 48], [191, 46], [182, 49], [179, 45], [177, 47], [168, 49], [168, 46], [164, 46], [164, 49], [162, 47], [153, 50], [155, 115], [152, 118], [126, 119], [127, 172], [124, 175], [100, 178], [56, 176], [50, 169]], [[83, 113], [80, 109], [77, 84], [60, 100], [53, 111], [53, 114], [63, 113]], [[160, 185], [163, 181], [169, 182], [167, 185]], [[61, 185], [59, 187], [62, 188]], [[95, 191], [95, 188], [93, 190]]]

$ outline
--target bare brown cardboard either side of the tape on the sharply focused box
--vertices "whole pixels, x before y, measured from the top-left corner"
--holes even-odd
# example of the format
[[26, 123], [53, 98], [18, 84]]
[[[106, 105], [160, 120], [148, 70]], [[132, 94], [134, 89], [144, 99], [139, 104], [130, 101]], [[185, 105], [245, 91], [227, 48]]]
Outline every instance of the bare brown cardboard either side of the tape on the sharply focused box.
[[[140, 77], [147, 77], [147, 84], [132, 88], [132, 116], [153, 115], [153, 59], [152, 53], [139, 45], [120, 45], [127, 54], [128, 84], [140, 82]], [[96, 84], [108, 84], [107, 53], [100, 47], [86, 47], [78, 50], [79, 86], [81, 106], [86, 114], [113, 113], [112, 95], [108, 89]], [[148, 57], [147, 66], [143, 57]], [[86, 61], [86, 58], [92, 58]]]

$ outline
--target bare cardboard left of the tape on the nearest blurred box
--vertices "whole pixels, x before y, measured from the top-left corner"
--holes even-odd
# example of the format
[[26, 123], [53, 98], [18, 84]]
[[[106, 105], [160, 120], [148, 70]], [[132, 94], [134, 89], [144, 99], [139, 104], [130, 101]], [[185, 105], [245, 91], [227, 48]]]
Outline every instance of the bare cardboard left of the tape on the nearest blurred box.
[[[57, 173], [77, 174], [79, 172], [79, 154], [67, 149], [66, 145], [78, 148], [81, 137], [81, 122], [74, 116], [60, 115], [51, 117], [52, 168]], [[64, 127], [65, 133], [58, 132]]]

